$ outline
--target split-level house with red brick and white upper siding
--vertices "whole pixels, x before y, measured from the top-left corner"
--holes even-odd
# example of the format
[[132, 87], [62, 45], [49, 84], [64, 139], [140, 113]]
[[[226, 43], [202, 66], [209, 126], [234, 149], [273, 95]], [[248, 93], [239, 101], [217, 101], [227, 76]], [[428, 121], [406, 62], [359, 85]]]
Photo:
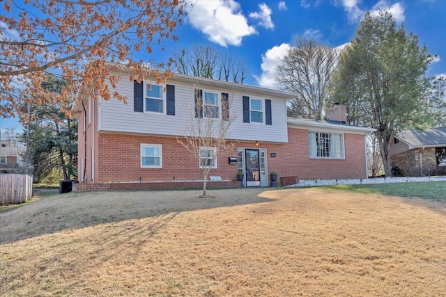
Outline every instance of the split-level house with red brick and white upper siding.
[[[226, 134], [234, 147], [218, 156], [210, 172], [226, 182], [209, 186], [240, 186], [238, 169], [245, 175], [243, 186], [269, 186], [273, 171], [282, 185], [367, 178], [365, 136], [374, 129], [346, 125], [344, 106], [328, 109], [329, 121], [287, 118], [292, 93], [184, 74], [174, 74], [164, 85], [123, 77], [118, 92], [127, 104], [93, 100], [91, 92], [84, 90], [74, 107], [79, 119], [76, 191], [200, 186], [194, 181], [203, 179], [201, 163], [176, 137], [187, 134], [187, 118], [222, 120], [224, 102], [235, 117]], [[197, 102], [213, 112], [197, 112]]]

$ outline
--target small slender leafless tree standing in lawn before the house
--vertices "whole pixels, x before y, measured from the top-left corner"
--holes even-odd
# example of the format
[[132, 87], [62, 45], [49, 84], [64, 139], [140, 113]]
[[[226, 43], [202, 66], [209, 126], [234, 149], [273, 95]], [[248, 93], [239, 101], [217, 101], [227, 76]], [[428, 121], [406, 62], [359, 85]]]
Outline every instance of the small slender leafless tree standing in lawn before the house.
[[199, 161], [203, 170], [203, 195], [200, 197], [206, 198], [210, 170], [214, 168], [218, 156], [235, 145], [226, 139], [235, 117], [229, 115], [229, 94], [221, 93], [219, 98], [219, 93], [205, 92], [199, 88], [194, 93], [194, 107], [185, 109], [190, 111], [185, 116], [185, 136], [176, 136], [176, 140]]

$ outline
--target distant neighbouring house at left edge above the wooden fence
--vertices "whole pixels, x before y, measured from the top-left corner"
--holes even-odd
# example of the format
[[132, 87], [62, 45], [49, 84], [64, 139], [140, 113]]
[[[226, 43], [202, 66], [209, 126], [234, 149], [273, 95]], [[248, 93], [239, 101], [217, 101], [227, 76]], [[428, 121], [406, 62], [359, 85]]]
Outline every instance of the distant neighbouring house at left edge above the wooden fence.
[[0, 173], [14, 173], [19, 168], [20, 154], [25, 148], [17, 141], [0, 141]]

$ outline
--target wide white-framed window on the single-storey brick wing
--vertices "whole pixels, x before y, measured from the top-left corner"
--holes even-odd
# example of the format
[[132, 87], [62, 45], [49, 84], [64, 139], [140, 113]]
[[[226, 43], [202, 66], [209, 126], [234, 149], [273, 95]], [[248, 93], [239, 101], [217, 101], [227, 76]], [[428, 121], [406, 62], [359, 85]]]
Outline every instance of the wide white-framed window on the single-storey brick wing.
[[344, 159], [344, 135], [309, 132], [309, 156], [311, 158]]

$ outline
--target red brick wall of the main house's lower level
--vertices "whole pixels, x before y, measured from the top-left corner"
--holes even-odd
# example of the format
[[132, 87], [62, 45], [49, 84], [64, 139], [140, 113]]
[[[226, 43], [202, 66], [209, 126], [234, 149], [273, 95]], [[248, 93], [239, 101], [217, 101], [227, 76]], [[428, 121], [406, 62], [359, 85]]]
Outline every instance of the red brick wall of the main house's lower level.
[[[275, 171], [279, 177], [297, 179], [344, 179], [364, 178], [364, 136], [344, 134], [345, 159], [310, 159], [309, 134], [305, 129], [288, 129], [289, 143], [236, 142], [229, 152], [217, 160], [217, 168], [210, 175], [223, 180], [235, 181], [237, 166], [229, 164], [228, 157], [237, 156], [237, 147], [266, 149], [268, 172]], [[95, 159], [95, 182], [174, 182], [203, 179], [199, 162], [174, 137], [141, 136], [130, 134], [96, 134], [98, 152]], [[162, 145], [162, 168], [141, 168], [141, 143]], [[81, 145], [79, 143], [79, 145]], [[79, 147], [80, 148], [80, 147]], [[275, 157], [270, 156], [274, 152]], [[89, 149], [87, 148], [87, 155]], [[87, 161], [89, 158], [87, 157]], [[87, 172], [89, 172], [87, 162]], [[87, 180], [87, 182], [89, 179]], [[278, 179], [280, 183], [280, 179]]]

